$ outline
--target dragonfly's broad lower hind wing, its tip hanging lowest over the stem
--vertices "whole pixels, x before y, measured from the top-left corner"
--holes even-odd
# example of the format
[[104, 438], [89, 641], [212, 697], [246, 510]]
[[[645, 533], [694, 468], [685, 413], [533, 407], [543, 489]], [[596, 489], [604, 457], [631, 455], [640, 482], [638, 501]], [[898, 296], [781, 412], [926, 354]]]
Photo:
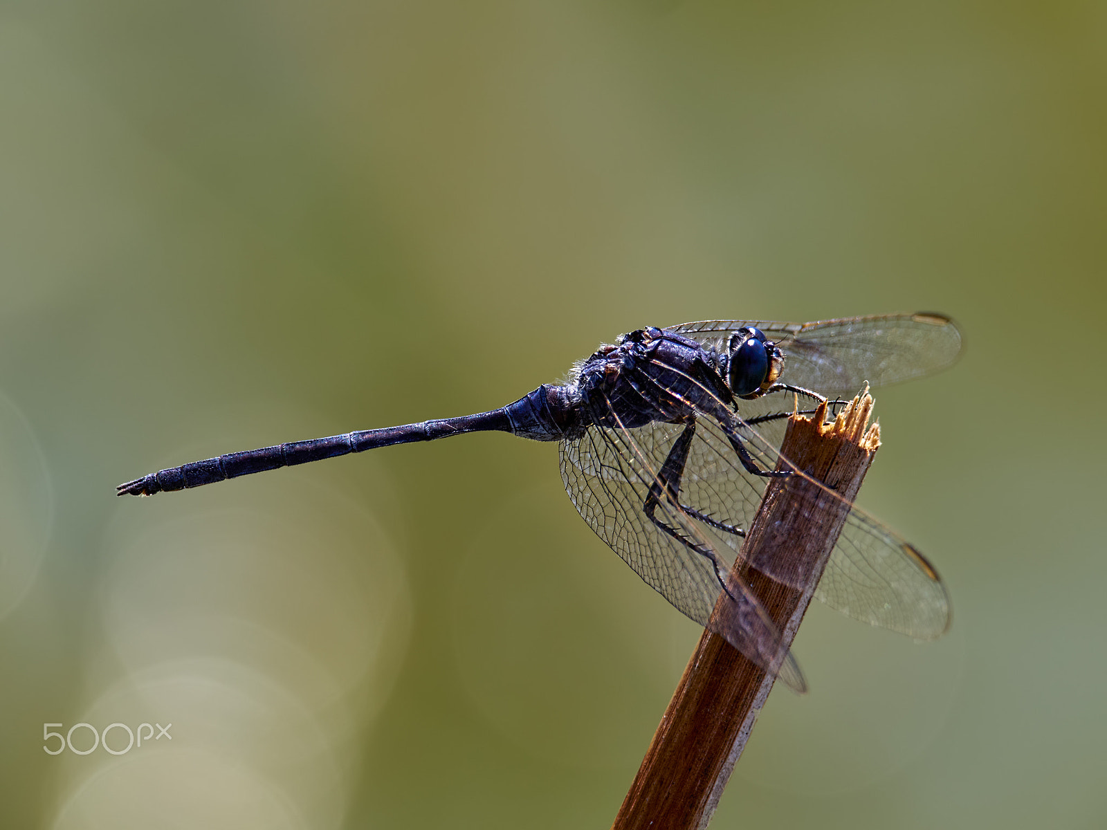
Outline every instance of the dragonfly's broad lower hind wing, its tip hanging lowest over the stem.
[[[804, 692], [803, 673], [790, 652], [783, 650], [772, 619], [742, 580], [727, 581], [733, 550], [664, 496], [654, 515], [684, 541], [646, 517], [650, 488], [681, 428], [672, 424], [634, 429], [593, 425], [581, 437], [563, 440], [561, 478], [569, 498], [588, 526], [676, 609]], [[721, 596], [726, 611], [713, 619]]]

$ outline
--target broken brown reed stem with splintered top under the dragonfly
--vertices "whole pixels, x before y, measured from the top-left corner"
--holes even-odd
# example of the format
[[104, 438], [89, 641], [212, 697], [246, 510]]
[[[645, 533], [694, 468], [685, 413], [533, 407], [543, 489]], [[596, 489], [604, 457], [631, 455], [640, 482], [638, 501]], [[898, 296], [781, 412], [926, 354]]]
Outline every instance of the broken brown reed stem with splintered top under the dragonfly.
[[[847, 501], [880, 446], [879, 425], [868, 425], [872, 398], [862, 392], [824, 425], [826, 404], [813, 418], [793, 415], [783, 456]], [[777, 465], [780, 468], [780, 465]], [[821, 496], [821, 498], [820, 498]], [[830, 557], [846, 511], [837, 500], [799, 478], [770, 479], [735, 562], [790, 647], [819, 577]], [[806, 573], [804, 588], [776, 582], [742, 563], [778, 557]], [[718, 614], [722, 604], [716, 605]], [[774, 678], [718, 634], [705, 630], [684, 670], [612, 830], [705, 828], [734, 765], [745, 748]]]

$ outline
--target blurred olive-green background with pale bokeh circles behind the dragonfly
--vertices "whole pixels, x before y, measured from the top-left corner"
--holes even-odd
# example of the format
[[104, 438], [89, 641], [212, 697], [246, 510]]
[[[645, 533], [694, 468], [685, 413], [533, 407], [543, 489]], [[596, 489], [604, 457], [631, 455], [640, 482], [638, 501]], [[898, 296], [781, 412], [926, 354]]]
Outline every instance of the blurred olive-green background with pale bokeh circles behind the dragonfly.
[[860, 500], [953, 629], [814, 608], [713, 827], [1103, 827], [1105, 219], [1104, 3], [9, 0], [0, 823], [609, 826], [699, 630], [554, 445], [114, 485], [937, 310]]

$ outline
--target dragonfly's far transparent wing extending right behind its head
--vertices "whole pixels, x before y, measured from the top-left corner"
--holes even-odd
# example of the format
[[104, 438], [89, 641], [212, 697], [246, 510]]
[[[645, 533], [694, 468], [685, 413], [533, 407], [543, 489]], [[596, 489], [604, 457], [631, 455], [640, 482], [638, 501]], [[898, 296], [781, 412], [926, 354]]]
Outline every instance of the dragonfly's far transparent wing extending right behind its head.
[[783, 383], [828, 397], [932, 374], [956, 361], [961, 332], [948, 317], [884, 314], [814, 323], [712, 320], [673, 325], [669, 331], [725, 350], [731, 332], [756, 325], [778, 341], [785, 354]]

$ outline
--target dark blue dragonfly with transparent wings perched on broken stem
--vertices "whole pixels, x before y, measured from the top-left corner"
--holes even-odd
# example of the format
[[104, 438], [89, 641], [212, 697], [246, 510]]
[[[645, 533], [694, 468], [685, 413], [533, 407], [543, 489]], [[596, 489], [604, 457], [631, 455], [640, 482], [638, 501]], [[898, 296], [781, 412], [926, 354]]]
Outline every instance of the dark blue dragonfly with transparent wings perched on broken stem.
[[[556, 440], [566, 491], [597, 536], [677, 610], [803, 692], [779, 629], [732, 573], [768, 480], [805, 477], [780, 456], [787, 418], [799, 400], [814, 407], [863, 384], [920, 377], [960, 352], [956, 325], [930, 312], [648, 326], [600, 345], [563, 383], [498, 409], [230, 453], [151, 473], [116, 492], [182, 490], [463, 433]], [[815, 596], [917, 640], [944, 633], [950, 602], [933, 566], [896, 531], [825, 492], [846, 517]], [[810, 578], [784, 561], [748, 564], [798, 589]], [[720, 602], [726, 613], [713, 615]]]

